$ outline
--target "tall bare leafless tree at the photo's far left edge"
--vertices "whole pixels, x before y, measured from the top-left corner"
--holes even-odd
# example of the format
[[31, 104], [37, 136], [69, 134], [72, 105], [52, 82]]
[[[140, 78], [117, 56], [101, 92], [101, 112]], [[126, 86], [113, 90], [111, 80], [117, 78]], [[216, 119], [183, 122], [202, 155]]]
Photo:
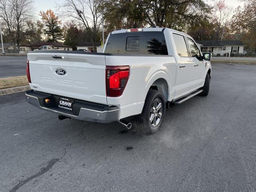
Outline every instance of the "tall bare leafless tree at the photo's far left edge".
[[21, 35], [32, 7], [33, 0], [0, 0], [0, 18], [16, 52], [20, 51]]

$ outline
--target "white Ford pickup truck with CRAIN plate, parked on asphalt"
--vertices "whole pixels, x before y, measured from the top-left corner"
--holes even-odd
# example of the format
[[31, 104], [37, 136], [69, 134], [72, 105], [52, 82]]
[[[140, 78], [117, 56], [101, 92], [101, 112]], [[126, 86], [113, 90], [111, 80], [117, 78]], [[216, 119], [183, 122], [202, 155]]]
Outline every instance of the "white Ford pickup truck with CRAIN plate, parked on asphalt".
[[[201, 94], [211, 79], [210, 53], [192, 37], [169, 28], [116, 30], [103, 53], [28, 53], [27, 101], [59, 119], [118, 121], [136, 116], [140, 131], [156, 132], [165, 109]], [[125, 121], [126, 120], [126, 121]]]

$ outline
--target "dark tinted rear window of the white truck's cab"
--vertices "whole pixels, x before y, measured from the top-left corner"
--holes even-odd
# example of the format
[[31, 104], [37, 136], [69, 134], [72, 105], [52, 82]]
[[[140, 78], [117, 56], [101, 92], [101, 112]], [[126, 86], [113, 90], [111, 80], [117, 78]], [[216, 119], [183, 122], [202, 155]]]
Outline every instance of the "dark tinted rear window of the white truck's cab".
[[163, 32], [126, 32], [111, 34], [105, 53], [168, 55]]

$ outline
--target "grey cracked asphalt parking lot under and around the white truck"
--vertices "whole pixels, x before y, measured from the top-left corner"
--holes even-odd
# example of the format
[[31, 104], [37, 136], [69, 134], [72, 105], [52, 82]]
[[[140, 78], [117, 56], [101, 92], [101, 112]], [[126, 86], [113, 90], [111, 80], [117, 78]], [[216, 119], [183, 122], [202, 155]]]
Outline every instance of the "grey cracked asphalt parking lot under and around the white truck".
[[256, 191], [256, 66], [212, 64], [207, 97], [146, 136], [0, 96], [0, 192]]

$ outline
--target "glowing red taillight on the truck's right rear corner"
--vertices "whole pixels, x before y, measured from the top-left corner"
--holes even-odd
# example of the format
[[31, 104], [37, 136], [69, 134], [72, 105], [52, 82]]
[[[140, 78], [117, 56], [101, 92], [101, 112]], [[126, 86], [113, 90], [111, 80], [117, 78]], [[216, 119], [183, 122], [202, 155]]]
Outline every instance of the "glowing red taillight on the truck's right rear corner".
[[109, 97], [121, 96], [130, 76], [129, 66], [106, 66], [106, 93]]

